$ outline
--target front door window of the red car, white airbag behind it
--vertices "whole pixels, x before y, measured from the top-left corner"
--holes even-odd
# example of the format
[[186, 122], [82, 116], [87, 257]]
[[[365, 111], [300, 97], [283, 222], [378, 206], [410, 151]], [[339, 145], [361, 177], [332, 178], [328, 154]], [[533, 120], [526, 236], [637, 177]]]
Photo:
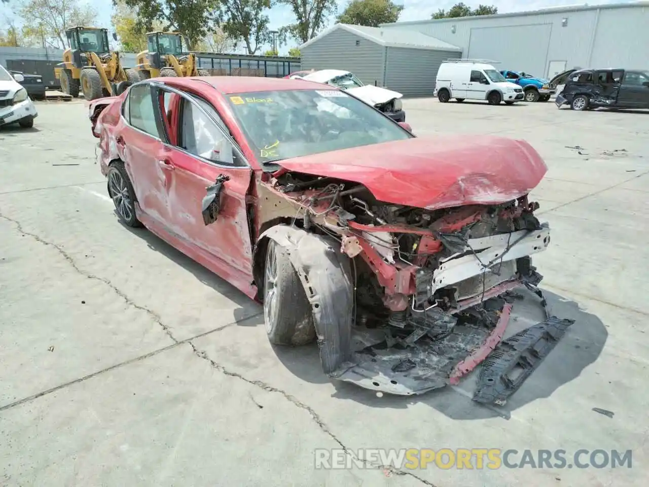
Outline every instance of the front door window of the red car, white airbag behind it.
[[204, 100], [182, 100], [180, 147], [189, 153], [222, 164], [234, 164], [232, 142], [198, 106], [208, 112], [227, 131], [218, 112]]

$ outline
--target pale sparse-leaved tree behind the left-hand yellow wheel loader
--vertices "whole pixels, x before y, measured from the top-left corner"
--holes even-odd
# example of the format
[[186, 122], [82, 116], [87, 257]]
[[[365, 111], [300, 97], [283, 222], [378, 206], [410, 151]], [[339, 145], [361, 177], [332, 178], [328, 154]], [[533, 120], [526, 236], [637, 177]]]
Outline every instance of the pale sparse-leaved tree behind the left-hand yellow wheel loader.
[[97, 11], [79, 0], [27, 0], [18, 8], [23, 33], [33, 44], [65, 49], [69, 47], [66, 29], [92, 26]]

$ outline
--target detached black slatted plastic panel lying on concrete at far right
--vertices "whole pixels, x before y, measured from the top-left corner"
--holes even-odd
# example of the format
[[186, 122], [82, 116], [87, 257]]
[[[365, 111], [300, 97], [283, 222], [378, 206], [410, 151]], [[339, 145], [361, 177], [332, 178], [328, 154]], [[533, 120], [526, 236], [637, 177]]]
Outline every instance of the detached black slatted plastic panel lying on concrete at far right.
[[573, 319], [552, 316], [500, 342], [487, 356], [473, 400], [504, 405], [561, 340]]

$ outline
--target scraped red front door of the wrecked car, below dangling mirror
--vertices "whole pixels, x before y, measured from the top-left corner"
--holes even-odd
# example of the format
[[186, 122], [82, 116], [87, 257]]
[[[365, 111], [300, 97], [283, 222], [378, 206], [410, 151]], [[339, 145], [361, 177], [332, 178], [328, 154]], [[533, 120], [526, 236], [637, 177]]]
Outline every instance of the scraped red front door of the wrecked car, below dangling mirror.
[[[217, 261], [213, 267], [221, 277], [238, 287], [236, 282], [241, 280], [245, 287], [252, 282], [247, 211], [252, 169], [210, 103], [169, 87], [160, 87], [158, 100], [168, 122], [166, 151], [173, 160], [167, 186], [169, 230], [199, 256]], [[206, 225], [202, 199], [219, 176], [228, 178], [221, 192], [221, 208], [217, 220]]]

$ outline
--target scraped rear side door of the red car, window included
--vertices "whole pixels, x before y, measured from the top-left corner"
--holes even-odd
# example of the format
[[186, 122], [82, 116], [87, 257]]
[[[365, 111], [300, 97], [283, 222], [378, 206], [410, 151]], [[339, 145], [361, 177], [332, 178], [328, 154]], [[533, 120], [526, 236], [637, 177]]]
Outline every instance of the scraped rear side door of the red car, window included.
[[166, 176], [170, 169], [164, 156], [160, 120], [154, 110], [153, 86], [136, 84], [123, 105], [123, 123], [115, 143], [133, 185], [140, 210], [160, 223], [169, 218]]

